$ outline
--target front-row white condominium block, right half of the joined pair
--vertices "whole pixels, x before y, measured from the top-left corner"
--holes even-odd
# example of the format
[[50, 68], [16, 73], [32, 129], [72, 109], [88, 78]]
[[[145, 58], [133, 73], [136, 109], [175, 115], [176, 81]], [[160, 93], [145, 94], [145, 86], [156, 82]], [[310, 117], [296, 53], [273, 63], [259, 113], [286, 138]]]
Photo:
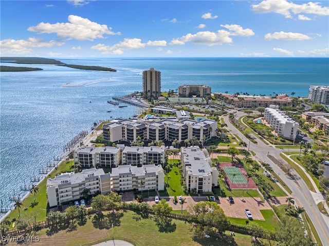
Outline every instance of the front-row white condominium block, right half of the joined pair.
[[[142, 181], [142, 182], [141, 182]], [[165, 173], [161, 165], [141, 167], [120, 165], [112, 169], [111, 189], [113, 191], [162, 191], [165, 189]]]

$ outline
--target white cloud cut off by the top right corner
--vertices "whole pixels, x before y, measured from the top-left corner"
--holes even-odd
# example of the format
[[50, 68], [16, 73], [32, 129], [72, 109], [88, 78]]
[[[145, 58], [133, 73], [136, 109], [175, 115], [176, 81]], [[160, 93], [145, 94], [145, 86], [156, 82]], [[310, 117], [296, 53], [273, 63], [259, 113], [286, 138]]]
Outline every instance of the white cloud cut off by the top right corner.
[[292, 18], [291, 12], [294, 14], [306, 13], [317, 15], [329, 15], [328, 7], [321, 7], [320, 3], [309, 2], [306, 4], [294, 4], [286, 0], [265, 0], [259, 4], [251, 5], [256, 13], [275, 12], [284, 15], [286, 18]]

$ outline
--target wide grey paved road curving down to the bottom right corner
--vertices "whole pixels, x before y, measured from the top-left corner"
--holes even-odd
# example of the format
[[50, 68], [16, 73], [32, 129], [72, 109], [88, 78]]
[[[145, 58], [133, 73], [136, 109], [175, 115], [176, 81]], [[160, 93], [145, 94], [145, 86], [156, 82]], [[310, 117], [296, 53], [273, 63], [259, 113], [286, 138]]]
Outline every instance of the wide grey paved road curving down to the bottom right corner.
[[[236, 116], [237, 118], [240, 118], [241, 116], [244, 115], [243, 112], [239, 112], [239, 111], [236, 114], [237, 114]], [[232, 134], [236, 134], [243, 141], [249, 144], [249, 140], [229, 122], [228, 116], [225, 116], [224, 120]], [[283, 180], [283, 182], [285, 182], [286, 185], [291, 189], [291, 191], [293, 191], [293, 194], [291, 195], [297, 198], [301, 206], [304, 207], [308, 216], [312, 220], [316, 231], [318, 232], [322, 244], [329, 245], [329, 221], [325, 215], [320, 213], [319, 209], [317, 208], [317, 204], [311, 192], [308, 190], [304, 180], [300, 178], [300, 176], [295, 170], [291, 171], [291, 173], [296, 177], [295, 180], [292, 180], [267, 156], [267, 154], [269, 153], [269, 155], [274, 156], [282, 163], [286, 163], [285, 160], [283, 160], [280, 157], [280, 153], [283, 152], [283, 150], [277, 149], [272, 146], [268, 146], [258, 138], [257, 138], [257, 143], [258, 144], [255, 145], [252, 142], [250, 142], [249, 150], [256, 153], [255, 158], [257, 160], [262, 160], [264, 162], [269, 163], [273, 171], [277, 173], [280, 176], [280, 178]]]

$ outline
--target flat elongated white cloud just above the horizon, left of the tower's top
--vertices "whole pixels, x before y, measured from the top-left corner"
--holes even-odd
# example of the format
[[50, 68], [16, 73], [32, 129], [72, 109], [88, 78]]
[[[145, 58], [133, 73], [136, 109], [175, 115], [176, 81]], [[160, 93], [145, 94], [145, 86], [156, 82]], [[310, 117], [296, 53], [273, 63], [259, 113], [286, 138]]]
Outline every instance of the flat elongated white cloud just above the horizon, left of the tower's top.
[[140, 38], [124, 38], [122, 42], [107, 46], [104, 44], [98, 44], [92, 46], [90, 49], [101, 51], [102, 54], [123, 54], [126, 50], [140, 49], [145, 46], [166, 46], [167, 42], [165, 40], [149, 40], [147, 43], [142, 43]]

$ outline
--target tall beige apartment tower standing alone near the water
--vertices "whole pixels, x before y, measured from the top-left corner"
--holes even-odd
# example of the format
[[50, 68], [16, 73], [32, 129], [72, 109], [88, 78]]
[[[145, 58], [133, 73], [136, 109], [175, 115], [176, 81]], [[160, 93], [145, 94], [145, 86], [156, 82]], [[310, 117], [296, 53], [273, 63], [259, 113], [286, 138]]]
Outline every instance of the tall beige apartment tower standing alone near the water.
[[161, 95], [161, 72], [150, 68], [143, 71], [143, 92], [145, 96], [159, 97]]

